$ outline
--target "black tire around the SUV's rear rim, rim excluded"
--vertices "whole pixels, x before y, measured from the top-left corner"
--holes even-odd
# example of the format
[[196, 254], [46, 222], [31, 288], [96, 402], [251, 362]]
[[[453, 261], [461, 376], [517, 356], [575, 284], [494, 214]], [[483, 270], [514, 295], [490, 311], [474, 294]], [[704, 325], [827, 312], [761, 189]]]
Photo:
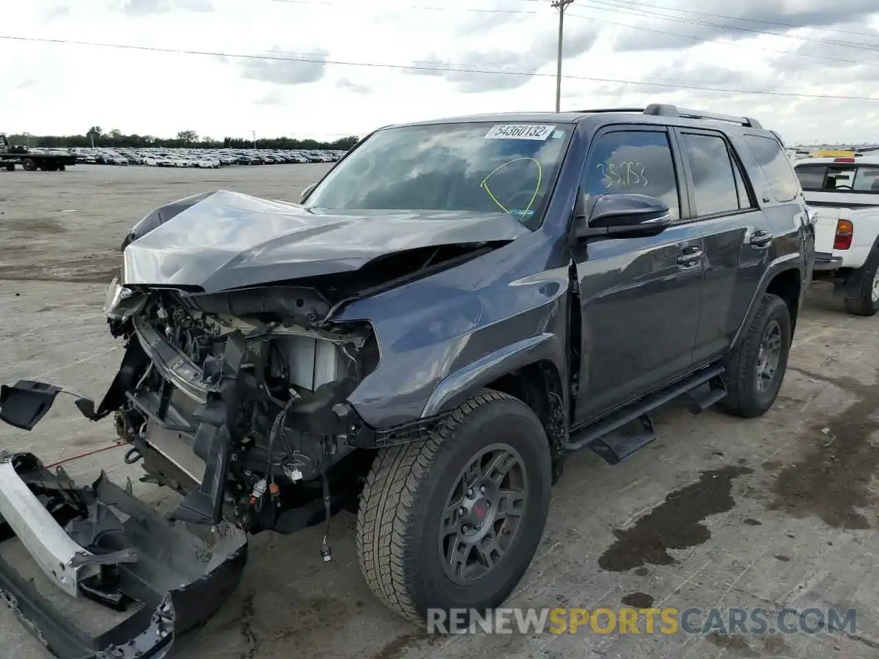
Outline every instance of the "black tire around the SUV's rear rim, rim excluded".
[[[760, 391], [757, 387], [760, 342], [766, 326], [772, 321], [778, 322], [781, 328], [781, 353], [770, 387]], [[757, 313], [725, 360], [727, 395], [719, 403], [720, 409], [732, 416], [752, 418], [763, 415], [773, 406], [788, 366], [790, 330], [788, 305], [778, 295], [765, 293], [759, 301]]]

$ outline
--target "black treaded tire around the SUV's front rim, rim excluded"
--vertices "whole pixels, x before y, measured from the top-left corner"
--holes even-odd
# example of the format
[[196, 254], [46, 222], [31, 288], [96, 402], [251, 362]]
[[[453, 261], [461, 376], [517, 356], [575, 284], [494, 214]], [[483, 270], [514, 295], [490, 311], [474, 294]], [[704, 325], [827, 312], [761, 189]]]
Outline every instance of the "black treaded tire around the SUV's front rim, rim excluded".
[[[487, 575], [463, 586], [448, 578], [439, 521], [458, 474], [484, 447], [505, 443], [527, 470], [525, 510], [512, 545]], [[500, 605], [531, 564], [549, 511], [549, 446], [524, 402], [496, 391], [470, 397], [424, 439], [381, 449], [360, 498], [357, 548], [369, 587], [392, 611], [425, 619], [429, 608]]]

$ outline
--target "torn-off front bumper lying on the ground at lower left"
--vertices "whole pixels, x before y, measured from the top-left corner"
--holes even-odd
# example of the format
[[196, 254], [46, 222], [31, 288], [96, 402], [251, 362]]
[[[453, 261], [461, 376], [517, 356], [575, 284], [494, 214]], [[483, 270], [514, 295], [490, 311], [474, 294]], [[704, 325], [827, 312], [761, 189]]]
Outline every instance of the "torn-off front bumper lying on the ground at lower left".
[[247, 561], [234, 526], [202, 540], [104, 474], [79, 487], [30, 453], [0, 456], [0, 514], [0, 540], [18, 536], [68, 595], [132, 611], [103, 634], [86, 634], [0, 558], [0, 598], [59, 659], [167, 655], [175, 634], [222, 605]]

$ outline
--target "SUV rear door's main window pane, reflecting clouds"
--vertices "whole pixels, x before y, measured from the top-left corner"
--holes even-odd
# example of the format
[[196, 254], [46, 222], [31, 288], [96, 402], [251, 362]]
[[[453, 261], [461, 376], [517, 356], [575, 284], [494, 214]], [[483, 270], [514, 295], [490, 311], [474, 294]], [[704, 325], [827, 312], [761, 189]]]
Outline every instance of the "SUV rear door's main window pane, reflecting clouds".
[[681, 134], [681, 148], [693, 176], [697, 217], [732, 213], [741, 207], [735, 165], [720, 135]]

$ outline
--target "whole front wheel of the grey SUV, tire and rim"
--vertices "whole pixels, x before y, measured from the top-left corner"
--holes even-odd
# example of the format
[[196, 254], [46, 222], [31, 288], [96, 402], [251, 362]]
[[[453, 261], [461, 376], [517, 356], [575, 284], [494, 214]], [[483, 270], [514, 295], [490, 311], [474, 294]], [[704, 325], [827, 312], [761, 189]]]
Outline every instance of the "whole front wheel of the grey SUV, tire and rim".
[[416, 442], [376, 455], [360, 499], [360, 569], [410, 620], [500, 605], [534, 558], [551, 465], [540, 420], [495, 391], [472, 396]]

